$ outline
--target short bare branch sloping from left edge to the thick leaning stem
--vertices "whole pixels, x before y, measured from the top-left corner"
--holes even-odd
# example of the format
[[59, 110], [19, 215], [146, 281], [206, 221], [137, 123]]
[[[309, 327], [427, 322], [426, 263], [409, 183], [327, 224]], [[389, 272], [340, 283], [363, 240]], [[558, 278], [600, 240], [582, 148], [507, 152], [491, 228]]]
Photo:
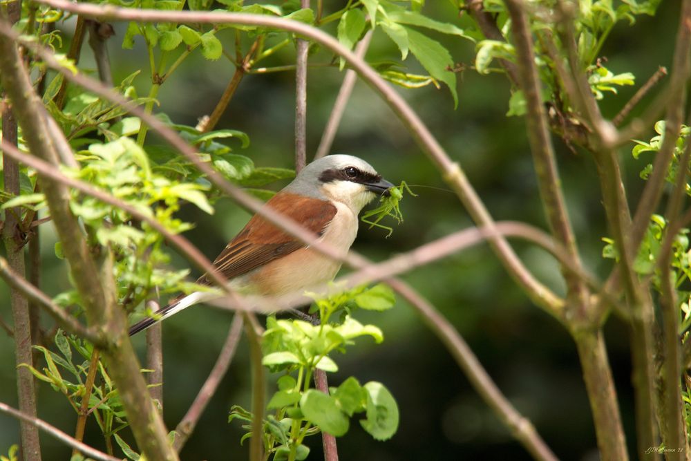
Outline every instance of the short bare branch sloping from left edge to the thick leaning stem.
[[66, 331], [78, 335], [95, 346], [104, 346], [104, 338], [98, 335], [93, 330], [86, 328], [77, 319], [65, 312], [63, 309], [53, 303], [53, 301], [41, 290], [23, 279], [19, 274], [12, 271], [5, 258], [0, 257], [0, 277], [2, 277], [8, 285], [15, 290], [21, 292], [23, 297], [29, 301], [37, 303], [41, 308], [44, 308], [55, 321], [57, 321]]

